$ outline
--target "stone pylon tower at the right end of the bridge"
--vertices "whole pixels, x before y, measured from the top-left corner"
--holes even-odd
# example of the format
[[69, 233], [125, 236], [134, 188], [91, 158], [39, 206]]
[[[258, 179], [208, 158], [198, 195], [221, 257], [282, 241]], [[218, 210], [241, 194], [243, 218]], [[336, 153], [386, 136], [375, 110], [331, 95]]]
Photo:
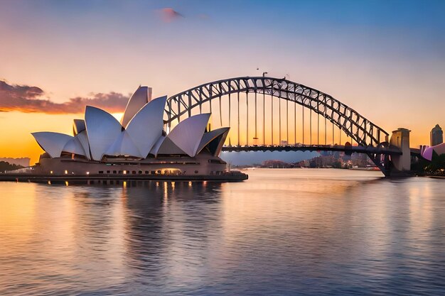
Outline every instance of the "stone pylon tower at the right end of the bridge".
[[402, 155], [391, 155], [390, 176], [408, 175], [411, 170], [411, 149], [409, 148], [409, 129], [397, 128], [392, 131], [390, 146], [402, 150]]

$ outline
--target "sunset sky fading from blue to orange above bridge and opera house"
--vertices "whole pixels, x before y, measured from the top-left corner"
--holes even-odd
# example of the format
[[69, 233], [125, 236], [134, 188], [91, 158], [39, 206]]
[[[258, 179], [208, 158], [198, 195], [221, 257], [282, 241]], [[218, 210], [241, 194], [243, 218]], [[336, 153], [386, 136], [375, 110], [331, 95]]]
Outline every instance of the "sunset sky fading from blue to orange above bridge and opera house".
[[[445, 126], [445, 1], [0, 0], [0, 157], [38, 160], [33, 131], [70, 133], [86, 104], [117, 117], [228, 77], [331, 94], [411, 146]], [[257, 70], [259, 69], [259, 70]]]

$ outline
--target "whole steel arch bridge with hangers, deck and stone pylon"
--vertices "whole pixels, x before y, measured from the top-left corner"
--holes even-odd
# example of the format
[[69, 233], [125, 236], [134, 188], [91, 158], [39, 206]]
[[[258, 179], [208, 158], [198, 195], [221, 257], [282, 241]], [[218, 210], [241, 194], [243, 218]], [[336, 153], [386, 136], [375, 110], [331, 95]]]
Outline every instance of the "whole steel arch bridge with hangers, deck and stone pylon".
[[211, 113], [210, 128], [230, 126], [223, 150], [333, 150], [365, 153], [385, 176], [409, 170], [409, 131], [392, 136], [334, 99], [303, 84], [274, 77], [208, 82], [169, 97], [164, 123]]

